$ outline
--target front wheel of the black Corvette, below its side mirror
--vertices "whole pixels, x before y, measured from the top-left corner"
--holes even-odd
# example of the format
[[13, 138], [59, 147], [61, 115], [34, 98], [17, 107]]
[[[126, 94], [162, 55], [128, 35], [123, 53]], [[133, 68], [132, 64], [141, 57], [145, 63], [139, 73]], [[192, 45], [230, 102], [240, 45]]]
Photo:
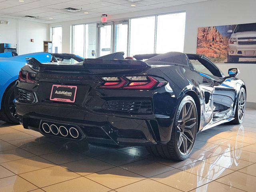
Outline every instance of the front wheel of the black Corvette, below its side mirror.
[[238, 102], [236, 104], [236, 112], [234, 116], [234, 120], [232, 120], [233, 124], [241, 124], [244, 119], [246, 109], [246, 92], [244, 88], [242, 87], [238, 96]]

